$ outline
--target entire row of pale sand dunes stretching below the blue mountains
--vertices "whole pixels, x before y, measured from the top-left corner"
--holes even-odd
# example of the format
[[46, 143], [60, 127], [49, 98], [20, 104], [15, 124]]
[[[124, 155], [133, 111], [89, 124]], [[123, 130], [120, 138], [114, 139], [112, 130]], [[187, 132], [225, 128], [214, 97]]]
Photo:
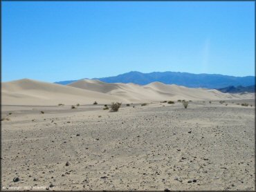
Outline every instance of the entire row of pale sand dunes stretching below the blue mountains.
[[177, 99], [241, 99], [254, 98], [254, 94], [229, 94], [218, 90], [187, 88], [154, 82], [145, 86], [136, 84], [109, 84], [99, 80], [83, 79], [68, 86], [31, 79], [3, 82], [3, 105], [57, 105], [99, 104], [110, 102], [140, 103]]

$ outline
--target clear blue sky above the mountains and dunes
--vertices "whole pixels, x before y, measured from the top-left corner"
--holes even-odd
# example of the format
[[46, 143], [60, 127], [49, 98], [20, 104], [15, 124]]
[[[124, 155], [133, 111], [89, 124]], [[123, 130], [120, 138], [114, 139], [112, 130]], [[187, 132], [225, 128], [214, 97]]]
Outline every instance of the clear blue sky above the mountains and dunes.
[[255, 75], [255, 2], [2, 2], [2, 81]]

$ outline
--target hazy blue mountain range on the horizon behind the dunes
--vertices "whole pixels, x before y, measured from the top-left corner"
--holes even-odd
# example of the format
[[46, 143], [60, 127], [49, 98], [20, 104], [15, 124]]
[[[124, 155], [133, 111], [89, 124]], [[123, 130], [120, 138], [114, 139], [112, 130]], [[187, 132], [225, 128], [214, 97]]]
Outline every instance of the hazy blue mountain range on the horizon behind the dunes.
[[[129, 73], [124, 73], [114, 77], [93, 79], [99, 79], [100, 81], [106, 83], [134, 83], [139, 85], [145, 85], [154, 81], [159, 81], [164, 84], [176, 84], [190, 88], [223, 88], [227, 86], [251, 86], [255, 84], [254, 76], [234, 77], [228, 75], [193, 74], [170, 71], [153, 73], [140, 73], [138, 71], [131, 71]], [[56, 83], [66, 84], [64, 81]]]

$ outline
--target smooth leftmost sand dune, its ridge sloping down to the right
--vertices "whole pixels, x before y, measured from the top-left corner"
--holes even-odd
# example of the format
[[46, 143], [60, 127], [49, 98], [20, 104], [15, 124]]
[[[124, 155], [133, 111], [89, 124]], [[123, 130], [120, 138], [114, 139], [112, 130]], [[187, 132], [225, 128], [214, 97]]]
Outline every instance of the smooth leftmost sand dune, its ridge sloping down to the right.
[[119, 101], [119, 98], [71, 86], [21, 79], [2, 83], [2, 104], [6, 105], [57, 105], [93, 104]]

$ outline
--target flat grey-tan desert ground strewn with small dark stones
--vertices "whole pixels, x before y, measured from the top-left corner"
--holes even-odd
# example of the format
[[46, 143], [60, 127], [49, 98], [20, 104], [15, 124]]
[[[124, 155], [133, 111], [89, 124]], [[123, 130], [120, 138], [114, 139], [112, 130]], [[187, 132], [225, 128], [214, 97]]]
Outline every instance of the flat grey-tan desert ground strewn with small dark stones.
[[226, 103], [2, 106], [1, 189], [255, 190], [255, 103]]

